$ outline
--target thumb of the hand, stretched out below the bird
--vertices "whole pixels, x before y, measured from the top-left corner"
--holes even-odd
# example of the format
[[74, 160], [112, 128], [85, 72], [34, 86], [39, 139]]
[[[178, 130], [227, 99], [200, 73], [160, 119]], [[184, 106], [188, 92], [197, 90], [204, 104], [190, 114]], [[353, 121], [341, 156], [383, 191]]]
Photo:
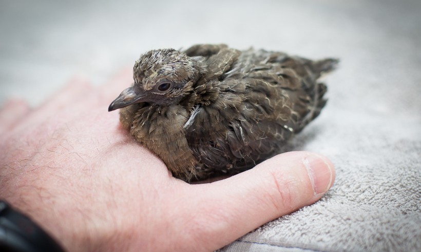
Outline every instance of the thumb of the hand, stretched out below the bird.
[[291, 152], [223, 181], [192, 185], [198, 200], [188, 206], [200, 209], [190, 222], [203, 228], [195, 229], [190, 239], [201, 238], [209, 250], [222, 247], [264, 223], [316, 202], [334, 179], [334, 166], [327, 158]]

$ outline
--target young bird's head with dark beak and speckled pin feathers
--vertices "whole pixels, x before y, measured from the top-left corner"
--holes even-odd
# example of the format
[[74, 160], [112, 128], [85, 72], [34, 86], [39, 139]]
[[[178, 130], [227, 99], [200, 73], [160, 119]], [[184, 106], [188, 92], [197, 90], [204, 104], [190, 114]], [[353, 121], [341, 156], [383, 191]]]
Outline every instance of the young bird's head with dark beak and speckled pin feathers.
[[202, 72], [200, 58], [175, 49], [150, 50], [133, 67], [135, 83], [111, 102], [108, 111], [140, 102], [176, 104], [193, 90]]

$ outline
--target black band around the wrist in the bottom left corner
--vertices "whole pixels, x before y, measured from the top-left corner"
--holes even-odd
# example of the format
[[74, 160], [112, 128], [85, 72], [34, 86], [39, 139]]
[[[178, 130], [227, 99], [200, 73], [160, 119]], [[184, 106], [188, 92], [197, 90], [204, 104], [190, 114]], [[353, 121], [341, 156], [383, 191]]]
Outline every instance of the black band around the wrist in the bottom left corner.
[[29, 217], [0, 200], [0, 251], [62, 252], [64, 250]]

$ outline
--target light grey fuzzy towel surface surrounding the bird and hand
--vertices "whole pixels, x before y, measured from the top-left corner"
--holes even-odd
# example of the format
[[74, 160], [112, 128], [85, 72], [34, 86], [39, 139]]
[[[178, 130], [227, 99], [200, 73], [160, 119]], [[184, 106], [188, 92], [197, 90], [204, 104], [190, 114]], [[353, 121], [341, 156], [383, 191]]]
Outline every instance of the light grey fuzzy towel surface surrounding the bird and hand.
[[340, 58], [326, 109], [290, 148], [332, 158], [334, 187], [225, 250], [419, 251], [419, 13], [417, 0], [3, 1], [0, 103], [39, 104], [74, 75], [100, 84], [152, 48], [227, 43]]

